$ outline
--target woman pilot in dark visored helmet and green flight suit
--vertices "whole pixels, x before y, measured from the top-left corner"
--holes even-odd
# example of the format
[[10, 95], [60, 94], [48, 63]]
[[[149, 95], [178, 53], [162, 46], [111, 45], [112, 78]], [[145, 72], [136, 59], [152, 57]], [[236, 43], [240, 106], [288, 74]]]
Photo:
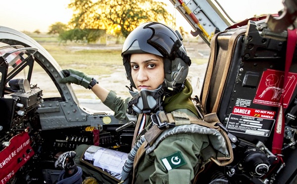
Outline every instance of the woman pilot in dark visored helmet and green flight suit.
[[[208, 137], [182, 131], [174, 134], [177, 123], [162, 120], [164, 114], [173, 114], [188, 124], [188, 117], [198, 117], [191, 101], [192, 86], [186, 79], [191, 60], [181, 37], [163, 24], [142, 24], [125, 40], [122, 57], [132, 98], [117, 97], [96, 79], [74, 69], [63, 70], [67, 77], [60, 82], [92, 89], [118, 119], [127, 119], [127, 113], [138, 118], [133, 139], [133, 145], [138, 146], [129, 153], [133, 158], [123, 168], [123, 182], [193, 183], [200, 150], [209, 145]], [[180, 122], [178, 127], [182, 130], [187, 125]]]

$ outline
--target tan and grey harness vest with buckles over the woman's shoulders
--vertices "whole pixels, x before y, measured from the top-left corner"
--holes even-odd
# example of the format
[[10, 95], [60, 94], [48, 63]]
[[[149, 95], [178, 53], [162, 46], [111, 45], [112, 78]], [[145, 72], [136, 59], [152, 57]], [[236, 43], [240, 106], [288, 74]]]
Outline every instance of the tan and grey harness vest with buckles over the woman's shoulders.
[[[200, 168], [202, 169], [205, 164], [211, 161], [218, 166], [225, 166], [233, 161], [233, 150], [230, 139], [234, 141], [236, 137], [228, 134], [227, 130], [219, 122], [216, 113], [206, 114], [204, 120], [189, 116], [185, 112], [177, 111], [169, 113], [159, 111], [154, 115], [151, 116], [154, 125], [145, 133], [145, 141], [139, 147], [134, 157], [132, 181], [134, 181], [135, 177], [135, 168], [137, 168], [143, 154], [152, 152], [162, 140], [175, 134], [198, 133], [206, 134], [209, 137], [210, 145], [200, 152], [202, 158]], [[198, 177], [198, 173], [195, 180]], [[194, 183], [196, 182], [195, 180]]]

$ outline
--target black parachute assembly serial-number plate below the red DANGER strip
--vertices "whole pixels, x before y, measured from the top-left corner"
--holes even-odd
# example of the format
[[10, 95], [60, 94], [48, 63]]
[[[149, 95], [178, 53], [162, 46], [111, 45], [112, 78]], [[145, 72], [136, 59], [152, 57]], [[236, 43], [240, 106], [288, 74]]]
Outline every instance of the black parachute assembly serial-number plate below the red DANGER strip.
[[226, 128], [230, 132], [269, 137], [274, 122], [274, 119], [231, 113]]

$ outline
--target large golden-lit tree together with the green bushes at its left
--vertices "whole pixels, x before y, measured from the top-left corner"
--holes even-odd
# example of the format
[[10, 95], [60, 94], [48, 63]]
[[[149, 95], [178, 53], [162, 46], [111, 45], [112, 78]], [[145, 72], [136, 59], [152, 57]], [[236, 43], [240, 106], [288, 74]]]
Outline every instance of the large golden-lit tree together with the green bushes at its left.
[[58, 34], [61, 41], [91, 43], [108, 34], [118, 42], [142, 23], [174, 22], [167, 4], [159, 0], [71, 0], [68, 8], [73, 10], [69, 23], [56, 22], [49, 27], [49, 34]]

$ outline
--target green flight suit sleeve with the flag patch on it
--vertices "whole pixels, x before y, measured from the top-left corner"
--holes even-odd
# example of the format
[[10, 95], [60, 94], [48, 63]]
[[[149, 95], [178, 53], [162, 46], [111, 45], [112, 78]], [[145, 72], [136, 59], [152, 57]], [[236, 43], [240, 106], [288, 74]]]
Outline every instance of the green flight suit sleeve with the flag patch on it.
[[[195, 177], [194, 168], [198, 165], [200, 150], [207, 146], [206, 135], [179, 134], [167, 137], [152, 153], [155, 156], [155, 172], [149, 176], [149, 182], [191, 184]], [[179, 163], [180, 166], [173, 164], [171, 167], [170, 162]], [[169, 166], [168, 163], [170, 163]]]

